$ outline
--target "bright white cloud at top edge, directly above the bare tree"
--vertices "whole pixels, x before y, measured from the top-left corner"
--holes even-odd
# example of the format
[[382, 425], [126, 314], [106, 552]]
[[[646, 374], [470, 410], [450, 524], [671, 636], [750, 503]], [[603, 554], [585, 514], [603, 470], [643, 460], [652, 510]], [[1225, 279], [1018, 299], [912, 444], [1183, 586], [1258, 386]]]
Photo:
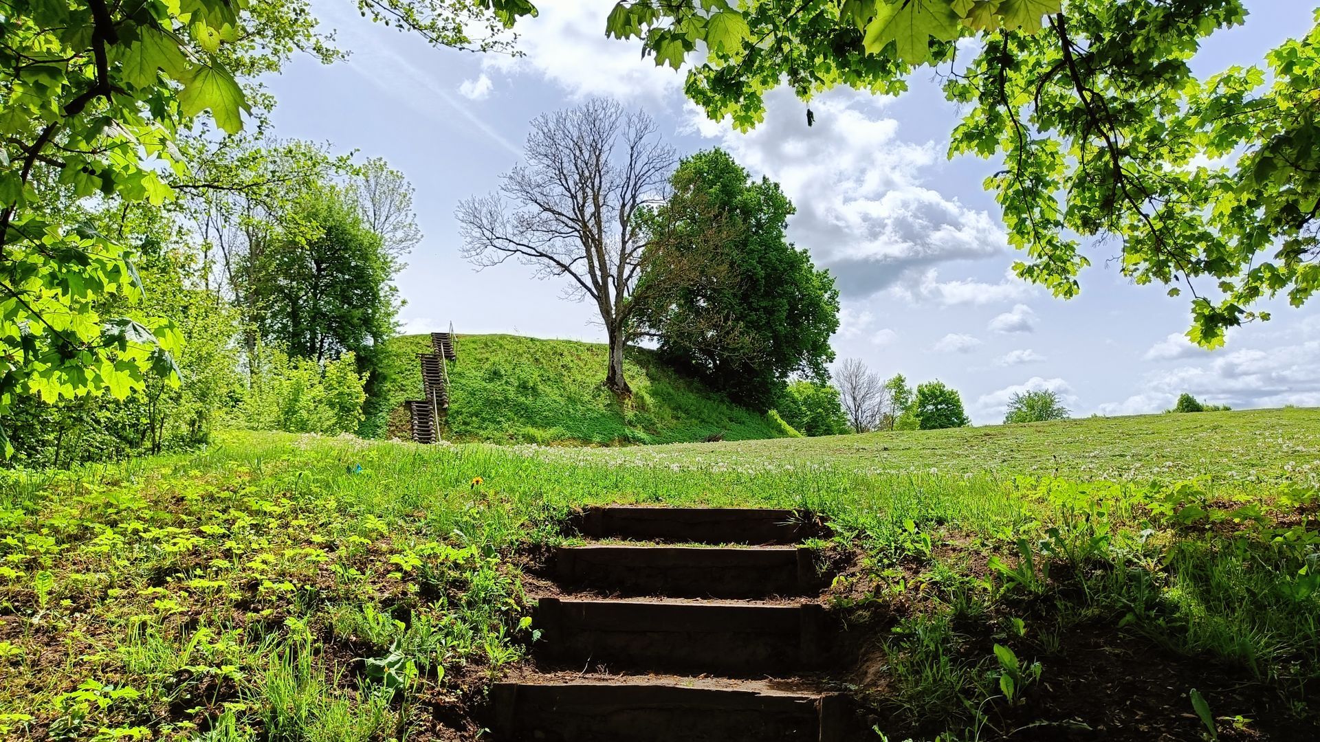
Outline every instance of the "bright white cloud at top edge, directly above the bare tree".
[[573, 98], [602, 95], [659, 100], [681, 91], [684, 75], [642, 57], [638, 40], [606, 38], [605, 20], [615, 0], [540, 3], [536, 20], [517, 26], [523, 57], [486, 54], [482, 65], [511, 74], [540, 74]]

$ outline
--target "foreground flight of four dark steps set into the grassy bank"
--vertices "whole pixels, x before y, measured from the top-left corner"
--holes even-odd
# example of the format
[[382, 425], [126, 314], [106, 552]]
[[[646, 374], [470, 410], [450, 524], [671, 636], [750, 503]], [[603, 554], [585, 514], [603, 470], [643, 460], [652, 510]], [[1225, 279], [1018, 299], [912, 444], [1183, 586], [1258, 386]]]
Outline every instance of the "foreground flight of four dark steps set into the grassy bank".
[[797, 545], [820, 523], [601, 507], [574, 525], [607, 543], [556, 549], [536, 669], [492, 689], [496, 742], [846, 738], [847, 702], [820, 672], [833, 632], [810, 597], [825, 580]]

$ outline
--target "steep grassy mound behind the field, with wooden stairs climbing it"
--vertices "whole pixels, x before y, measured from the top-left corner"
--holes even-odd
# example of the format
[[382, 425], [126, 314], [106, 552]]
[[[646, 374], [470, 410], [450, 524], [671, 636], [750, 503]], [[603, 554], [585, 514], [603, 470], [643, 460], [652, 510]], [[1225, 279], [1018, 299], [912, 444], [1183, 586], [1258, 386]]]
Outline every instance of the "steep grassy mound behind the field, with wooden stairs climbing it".
[[[407, 437], [405, 399], [421, 395], [417, 354], [428, 335], [389, 345], [393, 378], [384, 409], [388, 432]], [[702, 384], [678, 376], [644, 349], [630, 349], [626, 378], [634, 397], [615, 400], [603, 386], [606, 346], [516, 335], [459, 335], [450, 363], [450, 408], [445, 437], [491, 442], [663, 444], [771, 438], [764, 416], [729, 403]]]

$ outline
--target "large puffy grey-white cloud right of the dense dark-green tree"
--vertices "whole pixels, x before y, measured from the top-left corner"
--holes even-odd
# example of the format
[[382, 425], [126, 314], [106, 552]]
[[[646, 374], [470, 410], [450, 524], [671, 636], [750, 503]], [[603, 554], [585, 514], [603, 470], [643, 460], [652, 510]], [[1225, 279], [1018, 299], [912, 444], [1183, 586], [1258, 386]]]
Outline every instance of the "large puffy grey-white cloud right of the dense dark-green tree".
[[747, 133], [690, 104], [688, 111], [693, 131], [784, 187], [797, 207], [791, 239], [832, 269], [840, 290], [870, 296], [941, 263], [1007, 251], [997, 219], [923, 185], [942, 147], [902, 141], [887, 104], [834, 90], [812, 102], [816, 124], [808, 128], [801, 102], [779, 88], [766, 96], [764, 123]]

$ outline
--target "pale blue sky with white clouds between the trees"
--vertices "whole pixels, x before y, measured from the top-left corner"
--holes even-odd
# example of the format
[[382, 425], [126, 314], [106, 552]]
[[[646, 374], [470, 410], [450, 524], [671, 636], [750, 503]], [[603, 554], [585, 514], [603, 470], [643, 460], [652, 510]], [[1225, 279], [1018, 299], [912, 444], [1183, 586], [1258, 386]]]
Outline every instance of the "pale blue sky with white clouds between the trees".
[[[517, 333], [601, 339], [593, 308], [562, 298], [565, 284], [521, 265], [477, 272], [458, 253], [455, 205], [496, 187], [520, 158], [528, 121], [590, 95], [644, 108], [680, 153], [729, 149], [783, 184], [797, 206], [789, 239], [830, 268], [842, 289], [838, 358], [884, 375], [940, 379], [961, 391], [977, 424], [997, 422], [1014, 391], [1052, 388], [1074, 415], [1156, 412], [1181, 391], [1234, 408], [1320, 405], [1320, 304], [1236, 329], [1206, 353], [1181, 339], [1184, 298], [1137, 287], [1106, 265], [1117, 244], [1093, 244], [1080, 297], [1063, 301], [1007, 273], [998, 206], [981, 187], [990, 161], [945, 158], [957, 110], [929, 71], [884, 99], [840, 90], [805, 106], [768, 98], [748, 135], [705, 119], [682, 96], [682, 75], [606, 40], [614, 0], [541, 0], [519, 28], [521, 58], [433, 49], [360, 18], [343, 0], [314, 0], [323, 28], [351, 51], [322, 66], [297, 58], [265, 81], [275, 133], [385, 157], [417, 189], [425, 239], [399, 277], [408, 331]], [[1243, 28], [1212, 38], [1200, 74], [1259, 63], [1312, 24], [1303, 0], [1254, 0]], [[602, 370], [603, 374], [603, 370]]]

